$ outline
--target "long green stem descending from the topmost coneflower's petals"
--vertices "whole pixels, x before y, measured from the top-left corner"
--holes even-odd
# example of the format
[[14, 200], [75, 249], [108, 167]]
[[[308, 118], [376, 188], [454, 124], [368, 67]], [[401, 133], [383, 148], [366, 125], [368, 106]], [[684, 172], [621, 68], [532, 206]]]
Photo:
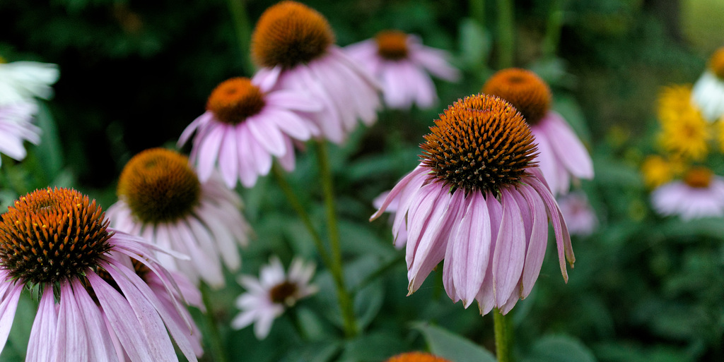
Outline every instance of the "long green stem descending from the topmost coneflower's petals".
[[345, 277], [342, 271], [342, 251], [340, 250], [340, 231], [337, 229], [337, 214], [334, 207], [334, 185], [332, 184], [332, 171], [329, 168], [329, 156], [327, 155], [327, 143], [324, 140], [317, 142], [317, 160], [319, 161], [319, 173], [321, 185], [324, 191], [324, 206], [327, 209], [327, 231], [329, 232], [329, 244], [332, 249], [332, 266], [330, 272], [334, 277], [334, 284], [337, 286], [337, 300], [342, 309], [342, 319], [345, 324], [345, 335], [354, 337], [357, 334], [357, 321], [352, 305], [352, 298], [345, 288]]

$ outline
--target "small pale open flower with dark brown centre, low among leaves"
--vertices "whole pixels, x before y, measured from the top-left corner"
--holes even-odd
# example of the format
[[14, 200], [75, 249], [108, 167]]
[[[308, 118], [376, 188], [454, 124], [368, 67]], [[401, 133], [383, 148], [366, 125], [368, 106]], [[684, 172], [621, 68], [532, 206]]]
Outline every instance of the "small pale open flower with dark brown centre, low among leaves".
[[246, 292], [236, 300], [241, 313], [232, 320], [232, 327], [242, 329], [253, 323], [254, 335], [260, 340], [266, 338], [277, 316], [300, 299], [317, 292], [316, 285], [309, 283], [314, 269], [313, 264], [305, 264], [295, 258], [287, 274], [279, 258], [271, 257], [269, 264], [261, 267], [258, 279], [241, 275], [239, 283]]

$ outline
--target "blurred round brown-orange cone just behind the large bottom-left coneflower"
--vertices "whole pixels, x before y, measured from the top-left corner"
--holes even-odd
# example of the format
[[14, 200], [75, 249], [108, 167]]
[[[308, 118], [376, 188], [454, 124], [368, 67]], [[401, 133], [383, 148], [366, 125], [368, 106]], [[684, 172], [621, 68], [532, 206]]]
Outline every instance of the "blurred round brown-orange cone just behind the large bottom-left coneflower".
[[201, 183], [184, 155], [152, 148], [125, 165], [118, 197], [143, 223], [169, 222], [192, 212], [201, 198]]

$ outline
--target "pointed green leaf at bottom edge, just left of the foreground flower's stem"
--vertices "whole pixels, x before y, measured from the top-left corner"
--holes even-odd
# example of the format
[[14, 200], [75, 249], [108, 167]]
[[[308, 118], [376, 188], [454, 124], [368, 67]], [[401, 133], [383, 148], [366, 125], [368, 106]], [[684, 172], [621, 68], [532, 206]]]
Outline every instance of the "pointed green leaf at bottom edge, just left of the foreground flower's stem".
[[413, 324], [424, 335], [430, 352], [453, 362], [495, 362], [495, 357], [485, 348], [456, 335], [426, 323]]

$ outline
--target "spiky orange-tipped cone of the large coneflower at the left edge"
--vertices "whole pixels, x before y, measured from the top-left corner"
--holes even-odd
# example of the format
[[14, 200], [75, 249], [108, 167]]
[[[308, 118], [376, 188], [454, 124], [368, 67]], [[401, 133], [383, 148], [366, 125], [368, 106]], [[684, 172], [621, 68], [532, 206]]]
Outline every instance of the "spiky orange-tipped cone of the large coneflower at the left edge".
[[30, 285], [80, 277], [111, 249], [108, 220], [96, 200], [73, 189], [20, 197], [0, 222], [0, 267]]

